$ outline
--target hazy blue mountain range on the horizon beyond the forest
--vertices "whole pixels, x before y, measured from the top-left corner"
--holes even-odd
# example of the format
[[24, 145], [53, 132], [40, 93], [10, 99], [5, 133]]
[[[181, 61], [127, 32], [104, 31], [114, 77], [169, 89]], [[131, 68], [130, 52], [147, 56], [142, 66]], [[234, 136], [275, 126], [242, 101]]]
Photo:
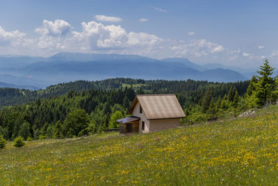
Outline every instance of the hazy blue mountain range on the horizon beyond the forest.
[[136, 55], [65, 52], [47, 58], [0, 56], [0, 81], [6, 86], [28, 85], [31, 89], [78, 79], [114, 77], [237, 82], [250, 79], [254, 72], [253, 69], [229, 68], [217, 63], [197, 65], [185, 58], [158, 60]]

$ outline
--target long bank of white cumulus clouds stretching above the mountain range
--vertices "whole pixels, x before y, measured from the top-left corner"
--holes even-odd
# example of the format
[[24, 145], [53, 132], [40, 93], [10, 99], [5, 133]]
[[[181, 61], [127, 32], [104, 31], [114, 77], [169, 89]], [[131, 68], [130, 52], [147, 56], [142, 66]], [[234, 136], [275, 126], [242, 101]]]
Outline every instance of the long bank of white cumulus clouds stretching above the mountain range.
[[[36, 29], [41, 36], [32, 39], [26, 38], [25, 33], [5, 31], [0, 26], [0, 54], [49, 56], [57, 52], [117, 53], [156, 59], [186, 57], [197, 63], [225, 61], [236, 65], [244, 61], [254, 65], [254, 60], [261, 62], [261, 56], [241, 52], [240, 49], [228, 49], [205, 39], [164, 39], [154, 34], [126, 31], [121, 25], [104, 25], [96, 21], [82, 22], [81, 26], [81, 31], [72, 31], [70, 23], [63, 20], [44, 20], [42, 26]], [[277, 50], [268, 58], [274, 56], [278, 56]]]

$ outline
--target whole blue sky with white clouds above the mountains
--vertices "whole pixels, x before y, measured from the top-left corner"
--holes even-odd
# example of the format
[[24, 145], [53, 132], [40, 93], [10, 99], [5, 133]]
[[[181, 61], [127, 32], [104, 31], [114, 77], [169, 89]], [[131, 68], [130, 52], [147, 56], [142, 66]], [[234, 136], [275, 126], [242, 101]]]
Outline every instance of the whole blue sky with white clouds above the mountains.
[[[185, 57], [278, 66], [276, 1], [0, 0], [0, 54]], [[277, 64], [277, 65], [276, 65]]]

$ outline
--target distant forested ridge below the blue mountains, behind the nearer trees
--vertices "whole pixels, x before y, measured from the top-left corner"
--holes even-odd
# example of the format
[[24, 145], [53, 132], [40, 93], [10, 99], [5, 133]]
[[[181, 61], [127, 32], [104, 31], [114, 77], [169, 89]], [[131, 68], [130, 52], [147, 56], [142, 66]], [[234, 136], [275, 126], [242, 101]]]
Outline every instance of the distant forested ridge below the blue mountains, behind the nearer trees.
[[194, 95], [194, 100], [199, 100], [200, 95], [208, 88], [212, 88], [213, 95], [221, 97], [235, 86], [238, 94], [243, 95], [249, 81], [234, 83], [215, 83], [207, 81], [167, 81], [167, 80], [144, 80], [130, 78], [104, 79], [101, 81], [76, 81], [49, 86], [38, 91], [29, 91], [18, 88], [0, 88], [0, 107], [27, 104], [36, 99], [51, 98], [51, 96], [65, 95], [70, 91], [111, 90], [117, 88], [133, 88], [136, 93], [184, 93]]

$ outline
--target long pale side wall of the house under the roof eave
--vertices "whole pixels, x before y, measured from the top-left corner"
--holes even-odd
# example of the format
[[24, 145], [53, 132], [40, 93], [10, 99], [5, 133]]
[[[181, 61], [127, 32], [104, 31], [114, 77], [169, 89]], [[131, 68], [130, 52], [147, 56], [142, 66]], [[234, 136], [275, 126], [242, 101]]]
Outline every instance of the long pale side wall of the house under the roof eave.
[[179, 127], [179, 118], [151, 120], [149, 126], [149, 131]]

